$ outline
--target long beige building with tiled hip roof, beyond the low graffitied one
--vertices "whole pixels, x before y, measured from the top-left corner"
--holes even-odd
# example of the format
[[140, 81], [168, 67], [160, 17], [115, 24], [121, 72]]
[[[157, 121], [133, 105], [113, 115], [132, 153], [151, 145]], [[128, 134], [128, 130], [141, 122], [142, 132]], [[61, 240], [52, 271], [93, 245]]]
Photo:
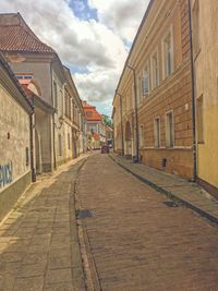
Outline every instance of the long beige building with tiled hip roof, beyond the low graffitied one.
[[[35, 95], [49, 108], [49, 112], [36, 110], [35, 153], [37, 172], [52, 171], [83, 151], [78, 145], [83, 143], [80, 128], [82, 106], [75, 105], [73, 109], [71, 101], [65, 102], [66, 87], [74, 84], [70, 84], [68, 70], [56, 51], [33, 33], [19, 13], [0, 14], [0, 50], [19, 78], [37, 84]], [[76, 94], [70, 99], [74, 97], [75, 104], [78, 102]], [[72, 113], [72, 110], [77, 122], [75, 126], [66, 118], [66, 112]]]

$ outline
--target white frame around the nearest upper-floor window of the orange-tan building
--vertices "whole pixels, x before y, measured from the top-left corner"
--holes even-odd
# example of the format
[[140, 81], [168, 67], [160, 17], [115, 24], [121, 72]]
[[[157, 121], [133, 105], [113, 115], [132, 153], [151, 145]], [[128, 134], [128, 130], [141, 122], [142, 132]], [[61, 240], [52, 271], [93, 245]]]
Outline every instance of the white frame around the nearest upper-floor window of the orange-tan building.
[[[169, 37], [170, 37], [170, 43], [171, 43], [171, 53], [170, 53], [171, 71], [167, 72], [168, 60], [166, 60], [166, 40]], [[174, 38], [173, 38], [173, 26], [171, 25], [162, 38], [162, 77], [164, 80], [170, 76], [173, 72], [174, 72]]]

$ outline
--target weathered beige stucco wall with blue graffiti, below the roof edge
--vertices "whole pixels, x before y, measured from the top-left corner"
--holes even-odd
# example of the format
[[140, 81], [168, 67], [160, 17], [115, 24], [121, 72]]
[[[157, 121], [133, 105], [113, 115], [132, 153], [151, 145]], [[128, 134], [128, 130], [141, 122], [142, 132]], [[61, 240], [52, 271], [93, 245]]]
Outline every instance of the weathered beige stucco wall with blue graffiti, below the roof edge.
[[0, 220], [29, 183], [29, 116], [0, 84]]

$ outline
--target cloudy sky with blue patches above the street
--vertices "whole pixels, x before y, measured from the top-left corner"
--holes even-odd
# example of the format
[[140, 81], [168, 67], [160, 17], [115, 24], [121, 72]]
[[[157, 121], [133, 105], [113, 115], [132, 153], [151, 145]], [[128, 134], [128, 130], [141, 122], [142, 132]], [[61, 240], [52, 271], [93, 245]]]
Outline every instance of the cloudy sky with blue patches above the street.
[[111, 114], [124, 61], [149, 0], [0, 0], [71, 69], [82, 99]]

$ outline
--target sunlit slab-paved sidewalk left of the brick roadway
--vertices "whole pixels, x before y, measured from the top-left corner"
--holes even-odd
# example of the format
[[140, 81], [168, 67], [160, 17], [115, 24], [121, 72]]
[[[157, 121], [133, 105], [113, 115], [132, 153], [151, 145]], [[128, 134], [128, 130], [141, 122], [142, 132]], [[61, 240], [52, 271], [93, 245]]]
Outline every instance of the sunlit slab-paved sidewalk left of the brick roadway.
[[1, 223], [0, 291], [85, 290], [73, 198], [82, 162], [44, 175]]

